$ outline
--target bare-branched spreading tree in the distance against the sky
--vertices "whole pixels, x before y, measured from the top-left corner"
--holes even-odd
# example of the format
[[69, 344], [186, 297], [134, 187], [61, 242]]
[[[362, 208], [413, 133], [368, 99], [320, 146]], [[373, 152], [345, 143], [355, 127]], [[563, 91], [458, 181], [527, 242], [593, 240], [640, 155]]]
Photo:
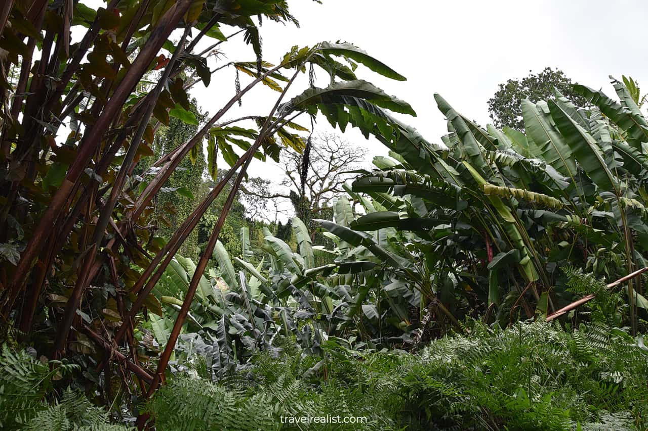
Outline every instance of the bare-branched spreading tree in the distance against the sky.
[[[350, 171], [362, 167], [367, 149], [337, 135], [319, 134], [303, 153], [285, 151], [284, 178], [278, 184], [283, 192], [269, 192], [268, 183], [248, 183], [242, 192], [260, 199], [289, 199], [297, 217], [308, 220], [330, 208], [332, 200], [344, 193], [343, 184], [353, 178]], [[304, 167], [307, 166], [307, 170]]]

